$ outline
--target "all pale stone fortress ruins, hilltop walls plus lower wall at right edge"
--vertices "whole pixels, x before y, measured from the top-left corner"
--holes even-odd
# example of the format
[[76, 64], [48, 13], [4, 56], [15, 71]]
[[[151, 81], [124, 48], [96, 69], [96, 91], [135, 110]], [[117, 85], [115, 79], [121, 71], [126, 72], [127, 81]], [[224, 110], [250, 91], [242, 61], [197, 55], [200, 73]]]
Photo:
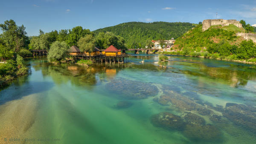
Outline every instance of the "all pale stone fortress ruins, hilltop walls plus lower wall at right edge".
[[[204, 20], [203, 21], [203, 27], [202, 30], [206, 31], [211, 26], [229, 26], [230, 24], [233, 24], [239, 28], [242, 28], [242, 24], [237, 20], [224, 20], [224, 19], [214, 19], [214, 20]], [[236, 33], [236, 36], [243, 37], [245, 40], [253, 40], [254, 43], [256, 43], [256, 34], [253, 33]]]

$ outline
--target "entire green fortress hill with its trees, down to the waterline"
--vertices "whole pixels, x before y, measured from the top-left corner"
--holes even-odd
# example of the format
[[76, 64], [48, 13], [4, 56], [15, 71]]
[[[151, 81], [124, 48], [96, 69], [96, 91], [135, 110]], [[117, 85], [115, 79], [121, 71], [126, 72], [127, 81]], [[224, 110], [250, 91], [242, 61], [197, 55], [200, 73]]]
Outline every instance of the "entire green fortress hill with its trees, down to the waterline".
[[204, 32], [202, 25], [198, 25], [176, 40], [173, 52], [163, 54], [255, 62], [256, 44], [252, 40], [236, 36], [238, 32], [253, 32], [252, 26], [243, 20], [241, 22], [243, 28], [233, 24], [223, 27], [211, 26]]

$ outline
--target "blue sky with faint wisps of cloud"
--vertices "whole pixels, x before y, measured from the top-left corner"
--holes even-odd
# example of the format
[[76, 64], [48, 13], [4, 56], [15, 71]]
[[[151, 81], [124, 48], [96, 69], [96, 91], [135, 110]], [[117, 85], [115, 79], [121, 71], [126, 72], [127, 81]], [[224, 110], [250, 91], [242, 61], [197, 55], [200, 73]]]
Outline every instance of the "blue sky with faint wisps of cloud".
[[15, 20], [26, 27], [28, 36], [38, 35], [39, 29], [82, 26], [93, 31], [131, 21], [198, 23], [216, 17], [256, 26], [256, 0], [3, 0], [0, 4], [0, 23]]

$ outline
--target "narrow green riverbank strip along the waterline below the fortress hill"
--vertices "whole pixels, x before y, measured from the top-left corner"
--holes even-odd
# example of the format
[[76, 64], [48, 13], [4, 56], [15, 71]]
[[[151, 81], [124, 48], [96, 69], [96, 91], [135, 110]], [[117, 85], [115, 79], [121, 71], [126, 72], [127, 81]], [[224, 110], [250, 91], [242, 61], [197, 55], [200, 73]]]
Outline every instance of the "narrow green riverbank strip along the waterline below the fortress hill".
[[192, 52], [190, 55], [183, 55], [182, 52], [156, 52], [156, 54], [164, 54], [164, 55], [179, 55], [179, 56], [188, 56], [188, 57], [198, 57], [198, 58], [209, 58], [214, 60], [226, 60], [233, 61], [238, 63], [246, 63], [256, 65], [256, 58], [251, 58], [249, 60], [237, 60], [235, 59], [235, 55], [230, 56], [220, 56], [219, 54], [210, 54], [208, 52]]

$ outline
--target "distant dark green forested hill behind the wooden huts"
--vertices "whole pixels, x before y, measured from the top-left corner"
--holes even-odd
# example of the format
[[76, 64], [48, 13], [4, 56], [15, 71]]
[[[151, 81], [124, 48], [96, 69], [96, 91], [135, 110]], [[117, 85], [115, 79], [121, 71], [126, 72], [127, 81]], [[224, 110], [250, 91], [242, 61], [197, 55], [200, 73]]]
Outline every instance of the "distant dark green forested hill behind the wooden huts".
[[172, 37], [176, 39], [195, 27], [194, 25], [180, 22], [129, 22], [97, 29], [94, 33], [98, 35], [99, 32], [112, 32], [123, 37], [128, 47], [134, 47], [134, 45], [143, 47], [146, 40], [170, 40]]

